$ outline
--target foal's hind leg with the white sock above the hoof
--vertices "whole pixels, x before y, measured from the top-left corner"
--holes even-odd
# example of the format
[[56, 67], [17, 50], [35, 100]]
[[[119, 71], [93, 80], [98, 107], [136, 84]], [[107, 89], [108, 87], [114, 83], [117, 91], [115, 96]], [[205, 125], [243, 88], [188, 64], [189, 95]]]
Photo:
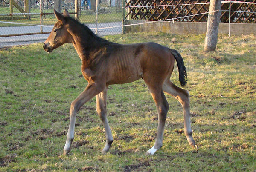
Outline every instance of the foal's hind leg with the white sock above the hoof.
[[166, 115], [169, 110], [169, 104], [160, 86], [152, 86], [148, 87], [148, 89], [151, 92], [154, 102], [156, 103], [158, 112], [157, 139], [156, 142], [154, 143], [154, 146], [151, 149], [149, 149], [146, 153], [147, 155], [153, 155], [158, 149], [160, 149], [163, 146], [163, 129], [166, 121]]

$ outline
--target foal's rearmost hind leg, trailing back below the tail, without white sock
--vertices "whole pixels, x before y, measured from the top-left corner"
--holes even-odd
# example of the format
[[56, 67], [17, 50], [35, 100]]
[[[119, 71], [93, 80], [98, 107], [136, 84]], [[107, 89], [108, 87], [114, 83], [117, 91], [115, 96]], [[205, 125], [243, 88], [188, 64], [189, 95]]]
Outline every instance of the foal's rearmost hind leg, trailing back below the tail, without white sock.
[[190, 105], [189, 105], [189, 92], [181, 89], [180, 87], [175, 86], [169, 78], [163, 83], [163, 91], [169, 95], [175, 97], [182, 105], [184, 112], [184, 128], [185, 135], [189, 141], [189, 145], [193, 148], [197, 147], [195, 140], [192, 137], [192, 129], [190, 124]]

